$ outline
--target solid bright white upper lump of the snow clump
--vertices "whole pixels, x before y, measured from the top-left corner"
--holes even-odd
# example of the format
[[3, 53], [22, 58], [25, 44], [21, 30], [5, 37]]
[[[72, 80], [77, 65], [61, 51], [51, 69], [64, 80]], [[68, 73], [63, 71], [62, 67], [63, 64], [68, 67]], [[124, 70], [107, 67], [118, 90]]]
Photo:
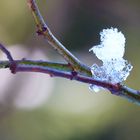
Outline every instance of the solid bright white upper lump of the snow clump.
[[98, 59], [107, 61], [123, 57], [125, 37], [117, 28], [104, 29], [100, 36], [101, 44], [90, 49]]

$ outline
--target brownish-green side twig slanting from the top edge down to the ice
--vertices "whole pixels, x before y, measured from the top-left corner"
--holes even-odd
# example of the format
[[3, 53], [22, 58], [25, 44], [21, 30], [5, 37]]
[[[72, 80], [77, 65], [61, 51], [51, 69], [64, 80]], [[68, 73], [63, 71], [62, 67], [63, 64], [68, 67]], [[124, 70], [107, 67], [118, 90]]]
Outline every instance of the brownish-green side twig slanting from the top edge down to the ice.
[[33, 18], [37, 26], [37, 33], [43, 35], [44, 38], [52, 45], [52, 47], [71, 65], [71, 67], [87, 76], [92, 76], [90, 67], [80, 62], [70, 51], [68, 51], [52, 34], [49, 27], [45, 23], [35, 0], [28, 0]]

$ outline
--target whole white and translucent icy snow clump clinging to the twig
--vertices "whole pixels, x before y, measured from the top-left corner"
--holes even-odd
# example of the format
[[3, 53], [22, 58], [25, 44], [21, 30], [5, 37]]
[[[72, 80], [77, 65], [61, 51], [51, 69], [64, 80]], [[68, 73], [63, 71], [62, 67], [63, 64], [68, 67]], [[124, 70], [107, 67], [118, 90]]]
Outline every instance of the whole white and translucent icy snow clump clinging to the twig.
[[[125, 37], [117, 28], [104, 29], [100, 33], [100, 45], [93, 46], [89, 51], [102, 61], [102, 66], [94, 64], [91, 67], [93, 77], [110, 82], [120, 83], [128, 77], [133, 66], [123, 58], [125, 51]], [[99, 87], [91, 85], [96, 92]]]

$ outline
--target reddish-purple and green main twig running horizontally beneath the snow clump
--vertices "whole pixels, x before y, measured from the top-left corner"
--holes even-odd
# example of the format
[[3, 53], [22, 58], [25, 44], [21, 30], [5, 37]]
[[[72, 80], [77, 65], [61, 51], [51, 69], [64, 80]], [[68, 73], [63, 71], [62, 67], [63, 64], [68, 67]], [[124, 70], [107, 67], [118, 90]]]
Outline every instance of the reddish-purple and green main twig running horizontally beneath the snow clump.
[[[131, 102], [140, 105], [140, 91], [131, 89], [121, 84], [111, 84], [105, 81], [93, 79], [74, 73], [72, 69], [63, 63], [51, 63], [46, 61], [15, 60], [16, 72], [40, 72], [51, 77], [62, 77], [70, 80], [97, 85], [108, 89], [113, 95], [124, 97]], [[9, 61], [0, 61], [0, 68], [10, 68]]]

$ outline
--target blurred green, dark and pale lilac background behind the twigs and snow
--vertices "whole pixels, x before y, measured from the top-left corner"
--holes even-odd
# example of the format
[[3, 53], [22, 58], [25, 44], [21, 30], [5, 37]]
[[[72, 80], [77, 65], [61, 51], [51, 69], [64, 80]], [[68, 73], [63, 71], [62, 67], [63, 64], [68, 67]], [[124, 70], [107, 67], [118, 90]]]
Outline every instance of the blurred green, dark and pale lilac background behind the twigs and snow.
[[[125, 82], [140, 89], [139, 0], [37, 0], [55, 36], [81, 61], [100, 63], [89, 49], [99, 32], [117, 27], [134, 66]], [[42, 37], [26, 0], [0, 0], [0, 42], [14, 58], [63, 62]], [[0, 54], [1, 59], [6, 59]], [[139, 140], [140, 107], [89, 85], [40, 73], [0, 70], [1, 140]]]

